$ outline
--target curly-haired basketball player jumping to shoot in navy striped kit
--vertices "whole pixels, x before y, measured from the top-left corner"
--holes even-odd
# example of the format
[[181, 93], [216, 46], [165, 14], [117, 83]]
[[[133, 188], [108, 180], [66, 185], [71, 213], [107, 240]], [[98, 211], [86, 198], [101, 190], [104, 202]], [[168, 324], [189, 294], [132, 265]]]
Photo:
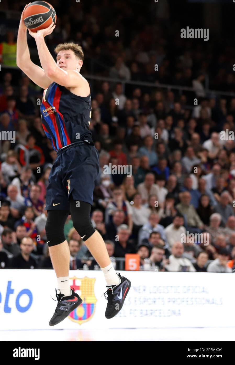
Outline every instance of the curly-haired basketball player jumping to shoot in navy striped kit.
[[55, 48], [55, 62], [44, 41], [44, 37], [55, 28], [52, 23], [37, 33], [29, 30], [35, 38], [42, 68], [33, 64], [23, 15], [24, 11], [17, 37], [17, 66], [44, 89], [41, 122], [53, 149], [57, 151], [49, 175], [45, 207], [48, 212], [45, 226], [47, 243], [59, 289], [59, 293], [56, 290], [58, 303], [49, 325], [60, 323], [82, 303], [69, 285], [70, 253], [64, 237], [64, 224], [69, 212], [73, 227], [104, 273], [107, 283], [105, 298], [108, 299], [105, 317], [112, 318], [122, 309], [131, 283], [115, 272], [103, 238], [91, 224], [90, 211], [94, 181], [99, 173], [99, 155], [89, 131], [91, 88], [80, 74], [83, 50], [74, 43], [60, 44]]

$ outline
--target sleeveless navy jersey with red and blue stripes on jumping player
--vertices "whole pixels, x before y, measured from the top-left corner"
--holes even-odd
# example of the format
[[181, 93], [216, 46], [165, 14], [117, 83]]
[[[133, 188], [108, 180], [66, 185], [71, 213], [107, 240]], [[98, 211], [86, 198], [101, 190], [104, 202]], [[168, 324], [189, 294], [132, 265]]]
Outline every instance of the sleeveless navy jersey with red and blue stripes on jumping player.
[[[91, 87], [90, 87], [91, 88]], [[44, 90], [40, 107], [41, 123], [52, 147], [60, 148], [79, 140], [92, 142], [91, 94], [77, 96], [64, 86], [52, 82]]]

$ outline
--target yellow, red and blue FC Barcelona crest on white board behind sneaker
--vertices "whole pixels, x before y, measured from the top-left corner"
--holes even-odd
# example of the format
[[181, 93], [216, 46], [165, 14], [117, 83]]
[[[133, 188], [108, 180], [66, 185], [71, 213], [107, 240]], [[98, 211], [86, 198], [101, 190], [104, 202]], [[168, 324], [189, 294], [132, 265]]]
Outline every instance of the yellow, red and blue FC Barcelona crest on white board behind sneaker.
[[90, 320], [95, 313], [97, 299], [94, 293], [94, 285], [96, 279], [87, 276], [84, 278], [74, 276], [69, 279], [73, 281], [70, 285], [71, 288], [74, 288], [74, 291], [77, 292], [83, 302], [69, 314], [68, 318], [73, 322], [82, 324]]

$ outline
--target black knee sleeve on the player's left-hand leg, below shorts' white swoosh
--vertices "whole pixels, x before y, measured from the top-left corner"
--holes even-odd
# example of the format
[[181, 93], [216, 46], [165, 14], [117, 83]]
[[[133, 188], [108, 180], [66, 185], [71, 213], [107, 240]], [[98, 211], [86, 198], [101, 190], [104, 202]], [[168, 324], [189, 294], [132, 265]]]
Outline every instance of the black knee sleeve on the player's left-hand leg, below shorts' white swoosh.
[[69, 215], [67, 210], [48, 210], [45, 226], [48, 246], [59, 245], [65, 241], [64, 224]]

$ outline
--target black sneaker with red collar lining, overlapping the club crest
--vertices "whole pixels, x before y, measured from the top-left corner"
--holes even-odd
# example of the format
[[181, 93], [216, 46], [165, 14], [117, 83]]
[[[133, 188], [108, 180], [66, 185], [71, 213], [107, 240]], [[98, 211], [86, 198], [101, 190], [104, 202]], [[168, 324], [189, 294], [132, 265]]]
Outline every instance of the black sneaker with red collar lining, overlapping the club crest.
[[53, 314], [49, 326], [55, 326], [55, 324], [63, 321], [69, 313], [74, 311], [80, 304], [82, 303], [82, 299], [79, 295], [74, 292], [74, 289], [71, 288], [72, 295], [65, 297], [63, 294], [57, 294], [56, 290], [56, 298], [58, 300], [55, 313]]

